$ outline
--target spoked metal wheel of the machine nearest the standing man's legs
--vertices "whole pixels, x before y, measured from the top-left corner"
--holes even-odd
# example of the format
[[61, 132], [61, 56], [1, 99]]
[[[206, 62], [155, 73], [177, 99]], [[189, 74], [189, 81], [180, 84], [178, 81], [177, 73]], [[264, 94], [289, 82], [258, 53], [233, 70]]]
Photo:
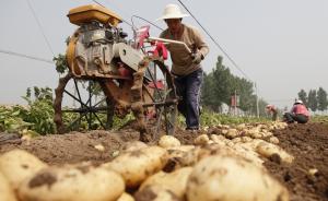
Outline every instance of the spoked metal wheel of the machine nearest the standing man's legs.
[[[177, 119], [177, 95], [172, 74], [167, 67], [161, 61], [151, 60], [145, 71], [143, 86], [143, 102], [149, 107], [147, 123], [152, 128], [153, 140], [163, 133], [174, 134]], [[152, 118], [153, 117], [153, 118]]]

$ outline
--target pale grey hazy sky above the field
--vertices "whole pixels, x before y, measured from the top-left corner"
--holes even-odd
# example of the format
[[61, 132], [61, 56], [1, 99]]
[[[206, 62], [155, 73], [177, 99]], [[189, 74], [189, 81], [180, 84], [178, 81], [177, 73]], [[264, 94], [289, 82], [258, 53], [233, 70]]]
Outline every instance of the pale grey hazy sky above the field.
[[[175, 0], [97, 0], [130, 22], [132, 15], [149, 21], [162, 15]], [[77, 28], [66, 16], [87, 0], [30, 0], [43, 33], [26, 0], [1, 0], [0, 50], [15, 51], [51, 60], [63, 54], [65, 39]], [[247, 76], [257, 83], [259, 96], [279, 107], [291, 106], [304, 88], [328, 90], [328, 1], [327, 0], [183, 0], [198, 21], [235, 60]], [[186, 11], [185, 11], [186, 12]], [[138, 26], [148, 24], [134, 19]], [[192, 17], [184, 20], [197, 27]], [[155, 22], [165, 27], [163, 22]], [[131, 27], [121, 27], [131, 37]], [[200, 28], [200, 27], [199, 27]], [[160, 29], [151, 27], [151, 35]], [[203, 33], [203, 32], [202, 32]], [[203, 33], [206, 36], [206, 34]], [[210, 54], [203, 69], [215, 67], [221, 50], [206, 36]], [[224, 57], [233, 74], [244, 76]], [[28, 86], [57, 87], [55, 66], [0, 54], [0, 104], [23, 104]]]

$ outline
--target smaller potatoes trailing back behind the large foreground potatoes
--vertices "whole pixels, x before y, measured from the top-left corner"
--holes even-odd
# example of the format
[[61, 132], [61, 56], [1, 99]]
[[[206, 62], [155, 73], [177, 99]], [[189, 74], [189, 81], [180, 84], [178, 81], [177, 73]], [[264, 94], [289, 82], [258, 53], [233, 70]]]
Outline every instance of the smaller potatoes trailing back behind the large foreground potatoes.
[[[195, 144], [203, 145], [218, 143], [235, 150], [243, 157], [261, 165], [262, 158], [278, 157], [282, 163], [292, 163], [294, 157], [279, 147], [279, 139], [273, 135], [273, 130], [284, 129], [285, 122], [271, 122], [237, 126], [216, 126], [208, 130], [208, 134], [198, 137]], [[207, 140], [206, 140], [207, 139]], [[201, 142], [201, 143], [199, 143]]]

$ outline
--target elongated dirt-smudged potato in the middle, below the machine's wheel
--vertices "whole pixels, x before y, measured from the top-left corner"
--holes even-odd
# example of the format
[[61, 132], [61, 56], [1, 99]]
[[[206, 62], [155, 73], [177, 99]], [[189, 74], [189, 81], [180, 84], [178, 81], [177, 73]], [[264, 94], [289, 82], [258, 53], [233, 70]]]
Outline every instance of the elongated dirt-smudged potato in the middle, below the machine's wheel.
[[167, 162], [167, 152], [160, 146], [149, 146], [124, 153], [103, 164], [122, 176], [127, 187], [138, 187], [147, 177], [161, 170]]

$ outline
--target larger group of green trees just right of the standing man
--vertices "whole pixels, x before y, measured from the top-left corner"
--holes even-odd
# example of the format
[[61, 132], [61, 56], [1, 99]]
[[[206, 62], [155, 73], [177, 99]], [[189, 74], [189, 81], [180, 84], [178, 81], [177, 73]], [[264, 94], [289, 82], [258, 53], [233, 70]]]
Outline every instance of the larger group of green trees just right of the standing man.
[[[212, 111], [222, 111], [222, 105], [231, 105], [232, 96], [238, 96], [238, 108], [246, 115], [256, 115], [257, 95], [249, 80], [233, 75], [229, 67], [223, 64], [223, 57], [219, 56], [215, 68], [204, 73], [201, 87], [201, 105]], [[263, 116], [267, 103], [258, 99], [259, 115]]]

